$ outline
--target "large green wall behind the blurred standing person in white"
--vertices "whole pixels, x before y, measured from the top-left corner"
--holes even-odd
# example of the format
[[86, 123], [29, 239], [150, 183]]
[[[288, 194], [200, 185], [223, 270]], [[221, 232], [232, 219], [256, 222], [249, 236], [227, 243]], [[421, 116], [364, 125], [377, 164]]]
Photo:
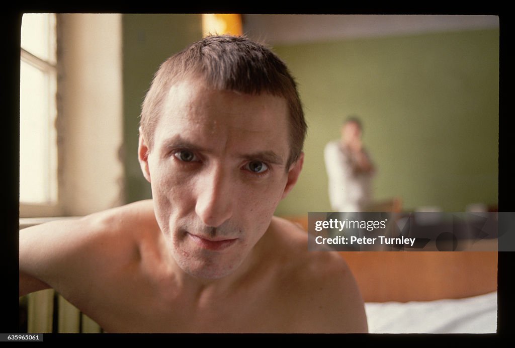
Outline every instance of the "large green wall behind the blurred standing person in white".
[[407, 210], [497, 204], [499, 30], [274, 46], [297, 78], [304, 169], [277, 214], [331, 211], [324, 145], [362, 117], [376, 199]]

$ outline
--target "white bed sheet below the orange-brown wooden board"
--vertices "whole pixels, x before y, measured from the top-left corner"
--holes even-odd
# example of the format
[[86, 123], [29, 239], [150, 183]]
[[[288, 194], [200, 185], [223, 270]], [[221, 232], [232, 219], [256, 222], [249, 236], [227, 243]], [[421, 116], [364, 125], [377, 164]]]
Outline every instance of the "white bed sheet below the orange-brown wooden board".
[[465, 299], [365, 303], [375, 334], [486, 334], [497, 330], [497, 292]]

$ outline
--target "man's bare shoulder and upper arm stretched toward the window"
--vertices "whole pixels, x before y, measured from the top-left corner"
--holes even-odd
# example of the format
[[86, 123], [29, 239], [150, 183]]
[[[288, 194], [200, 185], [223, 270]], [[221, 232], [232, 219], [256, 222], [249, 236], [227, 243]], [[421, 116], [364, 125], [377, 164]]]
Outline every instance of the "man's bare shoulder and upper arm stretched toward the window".
[[63, 294], [77, 292], [134, 259], [139, 240], [157, 228], [152, 202], [141, 201], [21, 230], [20, 294], [44, 288], [32, 287], [33, 279]]

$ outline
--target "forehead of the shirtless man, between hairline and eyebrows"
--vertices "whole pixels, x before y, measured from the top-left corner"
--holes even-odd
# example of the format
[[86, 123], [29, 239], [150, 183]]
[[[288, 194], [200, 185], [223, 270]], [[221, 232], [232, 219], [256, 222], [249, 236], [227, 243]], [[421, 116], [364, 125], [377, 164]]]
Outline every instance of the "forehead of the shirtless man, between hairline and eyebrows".
[[220, 91], [202, 80], [186, 80], [170, 87], [157, 135], [164, 141], [180, 134], [202, 147], [225, 141], [248, 151], [288, 153], [287, 115], [282, 97]]

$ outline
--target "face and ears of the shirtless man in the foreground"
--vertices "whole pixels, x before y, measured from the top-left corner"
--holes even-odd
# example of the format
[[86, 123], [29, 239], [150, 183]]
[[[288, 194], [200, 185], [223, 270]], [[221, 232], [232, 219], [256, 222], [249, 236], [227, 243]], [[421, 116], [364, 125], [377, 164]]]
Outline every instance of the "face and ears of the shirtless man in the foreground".
[[295, 184], [284, 98], [218, 91], [201, 79], [171, 86], [140, 162], [177, 264], [194, 276], [232, 273]]

